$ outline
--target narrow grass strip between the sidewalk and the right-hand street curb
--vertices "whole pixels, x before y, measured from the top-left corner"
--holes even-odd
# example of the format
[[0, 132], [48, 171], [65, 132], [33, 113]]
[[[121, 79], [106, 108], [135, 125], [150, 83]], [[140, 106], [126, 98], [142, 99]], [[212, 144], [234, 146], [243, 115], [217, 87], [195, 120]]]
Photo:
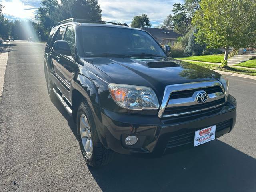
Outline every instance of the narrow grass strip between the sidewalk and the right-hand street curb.
[[245, 75], [252, 75], [256, 76], [256, 70], [253, 69], [244, 69], [244, 68], [235, 68], [235, 67], [227, 67], [227, 68], [221, 68], [219, 65], [216, 64], [206, 64], [206, 63], [200, 63], [200, 62], [193, 62], [189, 61], [189, 63], [196, 64], [202, 67], [206, 67], [208, 69], [215, 69], [215, 70], [220, 70], [220, 71], [227, 71], [227, 72], [232, 72], [232, 73], [240, 73], [240, 74], [245, 74]]

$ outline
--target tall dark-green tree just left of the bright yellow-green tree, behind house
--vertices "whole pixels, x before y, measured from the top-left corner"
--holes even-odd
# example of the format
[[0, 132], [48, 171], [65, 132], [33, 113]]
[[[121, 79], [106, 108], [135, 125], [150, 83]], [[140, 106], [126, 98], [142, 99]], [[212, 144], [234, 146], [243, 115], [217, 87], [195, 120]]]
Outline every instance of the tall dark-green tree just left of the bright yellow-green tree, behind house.
[[188, 17], [185, 6], [180, 3], [173, 5], [173, 26], [174, 31], [184, 35], [188, 32], [188, 26], [191, 24], [191, 19]]

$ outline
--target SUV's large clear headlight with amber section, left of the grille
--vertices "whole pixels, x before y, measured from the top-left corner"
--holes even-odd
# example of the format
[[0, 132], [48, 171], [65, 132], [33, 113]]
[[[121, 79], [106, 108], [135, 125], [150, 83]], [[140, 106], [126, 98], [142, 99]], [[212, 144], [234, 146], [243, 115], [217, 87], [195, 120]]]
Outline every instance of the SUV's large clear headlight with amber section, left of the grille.
[[149, 87], [110, 83], [108, 89], [113, 100], [122, 108], [132, 110], [159, 108], [156, 94]]

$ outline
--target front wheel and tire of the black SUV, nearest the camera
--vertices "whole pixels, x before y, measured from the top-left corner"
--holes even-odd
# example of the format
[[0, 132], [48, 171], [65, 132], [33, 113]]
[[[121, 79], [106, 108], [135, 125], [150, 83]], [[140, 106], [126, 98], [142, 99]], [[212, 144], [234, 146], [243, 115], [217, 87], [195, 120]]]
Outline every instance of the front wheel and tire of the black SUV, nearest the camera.
[[[76, 122], [78, 142], [86, 164], [96, 168], [110, 163], [113, 159], [114, 152], [106, 149], [100, 142], [92, 112], [86, 101], [82, 102], [78, 107]], [[85, 129], [85, 124], [83, 122], [87, 123], [87, 130]], [[88, 147], [86, 150], [85, 134], [88, 142], [91, 144], [91, 150], [90, 147]], [[82, 138], [81, 135], [84, 135], [84, 137]]]

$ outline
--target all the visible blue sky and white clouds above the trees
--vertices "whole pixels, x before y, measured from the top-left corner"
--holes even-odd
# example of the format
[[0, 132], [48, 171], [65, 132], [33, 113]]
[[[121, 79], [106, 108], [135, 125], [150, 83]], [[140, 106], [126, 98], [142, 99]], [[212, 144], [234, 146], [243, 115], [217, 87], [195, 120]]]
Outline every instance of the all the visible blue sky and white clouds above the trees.
[[[5, 6], [4, 15], [10, 19], [34, 19], [41, 0], [0, 0]], [[174, 3], [183, 0], [98, 0], [102, 8], [102, 20], [130, 24], [136, 15], [147, 14], [152, 26], [161, 24], [172, 13]]]

